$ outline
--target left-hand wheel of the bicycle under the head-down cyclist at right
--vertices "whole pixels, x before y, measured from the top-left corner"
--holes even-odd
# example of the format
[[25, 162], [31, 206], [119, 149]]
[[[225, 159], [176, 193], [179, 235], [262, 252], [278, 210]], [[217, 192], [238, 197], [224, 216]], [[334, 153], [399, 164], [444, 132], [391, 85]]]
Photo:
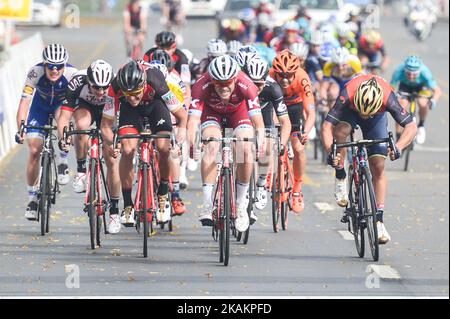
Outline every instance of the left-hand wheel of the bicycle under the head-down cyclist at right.
[[353, 165], [349, 166], [348, 169], [348, 201], [350, 205], [350, 221], [349, 226], [351, 227], [351, 233], [353, 234], [356, 252], [360, 258], [364, 257], [365, 254], [365, 237], [364, 237], [364, 228], [360, 227], [360, 214], [359, 214], [359, 205], [354, 197], [354, 191], [356, 185], [353, 183], [353, 174], [354, 168]]

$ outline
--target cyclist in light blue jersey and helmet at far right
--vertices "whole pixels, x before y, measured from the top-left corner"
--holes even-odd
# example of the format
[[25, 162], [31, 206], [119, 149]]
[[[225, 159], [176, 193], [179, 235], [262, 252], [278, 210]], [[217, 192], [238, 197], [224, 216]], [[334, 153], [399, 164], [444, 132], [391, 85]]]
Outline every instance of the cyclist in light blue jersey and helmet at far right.
[[[392, 75], [391, 85], [397, 86], [400, 95], [400, 104], [409, 110], [409, 100], [402, 93], [420, 93], [417, 103], [419, 106], [419, 123], [417, 130], [417, 143], [423, 144], [426, 139], [425, 120], [429, 109], [434, 109], [436, 102], [442, 95], [442, 90], [433, 79], [430, 69], [415, 55], [410, 55], [398, 66]], [[431, 98], [428, 98], [429, 96]], [[397, 126], [397, 136], [401, 134], [401, 127]]]

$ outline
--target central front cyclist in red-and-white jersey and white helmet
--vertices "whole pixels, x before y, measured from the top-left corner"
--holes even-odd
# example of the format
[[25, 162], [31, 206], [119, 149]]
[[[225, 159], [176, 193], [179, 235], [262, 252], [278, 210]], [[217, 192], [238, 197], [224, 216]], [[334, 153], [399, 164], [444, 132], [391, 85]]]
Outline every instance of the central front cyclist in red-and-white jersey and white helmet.
[[[258, 89], [246, 76], [237, 62], [228, 55], [214, 59], [208, 69], [192, 87], [192, 103], [189, 110], [188, 132], [191, 147], [195, 144], [197, 127], [201, 124], [202, 137], [222, 137], [222, 125], [233, 129], [237, 138], [251, 138], [253, 129], [264, 146], [264, 121], [261, 115]], [[261, 147], [264, 149], [264, 147]], [[203, 210], [200, 221], [203, 226], [212, 226], [213, 196], [216, 184], [219, 152], [218, 143], [208, 143], [202, 158]], [[191, 152], [199, 158], [198, 152]], [[245, 232], [250, 224], [247, 213], [247, 194], [253, 169], [253, 154], [250, 143], [236, 143], [238, 158], [236, 169], [235, 227]]]

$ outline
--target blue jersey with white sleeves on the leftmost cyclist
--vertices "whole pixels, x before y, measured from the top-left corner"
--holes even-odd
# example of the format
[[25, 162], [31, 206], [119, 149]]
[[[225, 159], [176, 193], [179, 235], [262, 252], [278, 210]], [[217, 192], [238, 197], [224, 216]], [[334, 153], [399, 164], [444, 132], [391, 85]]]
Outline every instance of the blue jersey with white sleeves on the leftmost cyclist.
[[49, 107], [59, 106], [65, 99], [69, 81], [76, 72], [77, 69], [68, 64], [62, 77], [53, 83], [45, 75], [44, 64], [39, 63], [28, 72], [22, 98], [39, 96], [39, 100]]

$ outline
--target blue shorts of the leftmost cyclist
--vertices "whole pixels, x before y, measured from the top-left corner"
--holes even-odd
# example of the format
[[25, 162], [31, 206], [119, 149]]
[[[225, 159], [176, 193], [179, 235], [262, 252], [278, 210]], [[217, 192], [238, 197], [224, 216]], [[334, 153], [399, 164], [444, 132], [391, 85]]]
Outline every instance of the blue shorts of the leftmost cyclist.
[[[50, 114], [60, 108], [61, 105], [49, 106], [40, 95], [36, 94], [31, 103], [30, 112], [28, 114], [27, 125], [45, 126], [48, 124]], [[27, 129], [27, 138], [45, 139], [45, 131], [36, 129]]]

